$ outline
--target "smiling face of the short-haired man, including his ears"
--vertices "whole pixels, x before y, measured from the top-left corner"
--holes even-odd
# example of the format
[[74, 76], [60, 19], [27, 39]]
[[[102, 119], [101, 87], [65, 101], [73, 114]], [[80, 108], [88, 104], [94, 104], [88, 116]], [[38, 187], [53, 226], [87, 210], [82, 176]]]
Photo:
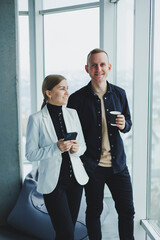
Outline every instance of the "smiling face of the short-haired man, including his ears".
[[106, 81], [111, 70], [111, 64], [108, 63], [108, 57], [104, 52], [95, 53], [90, 56], [85, 69], [89, 73], [92, 82], [101, 83]]

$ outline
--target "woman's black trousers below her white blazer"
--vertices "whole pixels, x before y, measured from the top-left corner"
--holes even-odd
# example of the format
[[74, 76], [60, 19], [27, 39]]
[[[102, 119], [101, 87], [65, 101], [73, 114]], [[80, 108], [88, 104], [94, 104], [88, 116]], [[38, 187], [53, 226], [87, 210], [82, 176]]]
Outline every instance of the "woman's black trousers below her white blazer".
[[60, 179], [44, 202], [56, 232], [56, 240], [74, 240], [74, 227], [78, 217], [83, 187], [74, 177]]

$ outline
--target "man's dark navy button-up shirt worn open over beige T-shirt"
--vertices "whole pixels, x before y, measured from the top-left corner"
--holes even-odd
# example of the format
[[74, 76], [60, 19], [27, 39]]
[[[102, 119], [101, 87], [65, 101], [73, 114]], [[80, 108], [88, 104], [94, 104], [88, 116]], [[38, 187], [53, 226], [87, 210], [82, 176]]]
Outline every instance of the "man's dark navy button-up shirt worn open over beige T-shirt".
[[[118, 173], [126, 166], [126, 155], [120, 130], [110, 125], [110, 111], [120, 111], [125, 116], [125, 128], [121, 132], [128, 132], [131, 128], [131, 116], [125, 90], [107, 82], [107, 91], [103, 96], [108, 137], [111, 146], [113, 172]], [[93, 92], [91, 82], [73, 93], [68, 100], [68, 107], [77, 110], [87, 150], [82, 161], [86, 170], [94, 171], [97, 167], [102, 149], [101, 101]]]

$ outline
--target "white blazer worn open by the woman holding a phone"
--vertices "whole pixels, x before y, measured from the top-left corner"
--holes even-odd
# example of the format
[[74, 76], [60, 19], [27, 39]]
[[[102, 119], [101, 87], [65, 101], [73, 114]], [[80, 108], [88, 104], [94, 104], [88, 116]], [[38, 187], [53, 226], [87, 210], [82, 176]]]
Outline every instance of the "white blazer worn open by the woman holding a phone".
[[[85, 185], [88, 175], [79, 156], [86, 150], [81, 124], [76, 110], [62, 106], [67, 132], [77, 132], [79, 150], [69, 156], [77, 182]], [[28, 120], [26, 136], [26, 158], [39, 161], [37, 191], [42, 194], [52, 192], [58, 182], [62, 164], [62, 152], [57, 146], [58, 138], [47, 106], [31, 115]]]

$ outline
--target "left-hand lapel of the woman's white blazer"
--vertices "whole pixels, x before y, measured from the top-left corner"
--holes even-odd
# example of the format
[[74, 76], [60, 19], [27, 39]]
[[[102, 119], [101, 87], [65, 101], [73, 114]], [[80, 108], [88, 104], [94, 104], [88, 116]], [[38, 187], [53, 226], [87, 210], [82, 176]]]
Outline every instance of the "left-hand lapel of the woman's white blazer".
[[52, 141], [58, 141], [55, 128], [52, 123], [52, 119], [49, 115], [47, 106], [45, 105], [44, 108], [42, 108], [42, 118], [45, 123], [46, 129], [48, 131], [49, 136], [51, 137]]

